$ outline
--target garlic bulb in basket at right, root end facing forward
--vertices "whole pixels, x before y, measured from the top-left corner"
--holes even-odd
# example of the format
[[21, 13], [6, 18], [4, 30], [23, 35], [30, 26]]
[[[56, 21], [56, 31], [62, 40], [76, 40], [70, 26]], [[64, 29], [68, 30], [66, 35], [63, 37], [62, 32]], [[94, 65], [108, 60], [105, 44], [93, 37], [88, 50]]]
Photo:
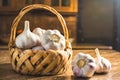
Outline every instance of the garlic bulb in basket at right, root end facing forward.
[[58, 30], [47, 30], [41, 38], [45, 50], [64, 50], [65, 38]]

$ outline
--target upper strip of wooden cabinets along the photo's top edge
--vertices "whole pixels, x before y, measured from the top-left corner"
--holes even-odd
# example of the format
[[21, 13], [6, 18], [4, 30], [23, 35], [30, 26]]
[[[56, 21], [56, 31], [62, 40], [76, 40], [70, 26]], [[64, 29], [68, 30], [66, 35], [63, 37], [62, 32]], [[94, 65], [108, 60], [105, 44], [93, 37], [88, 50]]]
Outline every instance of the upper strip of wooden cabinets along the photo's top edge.
[[17, 11], [30, 4], [46, 4], [59, 12], [77, 12], [78, 0], [0, 0], [0, 11]]

